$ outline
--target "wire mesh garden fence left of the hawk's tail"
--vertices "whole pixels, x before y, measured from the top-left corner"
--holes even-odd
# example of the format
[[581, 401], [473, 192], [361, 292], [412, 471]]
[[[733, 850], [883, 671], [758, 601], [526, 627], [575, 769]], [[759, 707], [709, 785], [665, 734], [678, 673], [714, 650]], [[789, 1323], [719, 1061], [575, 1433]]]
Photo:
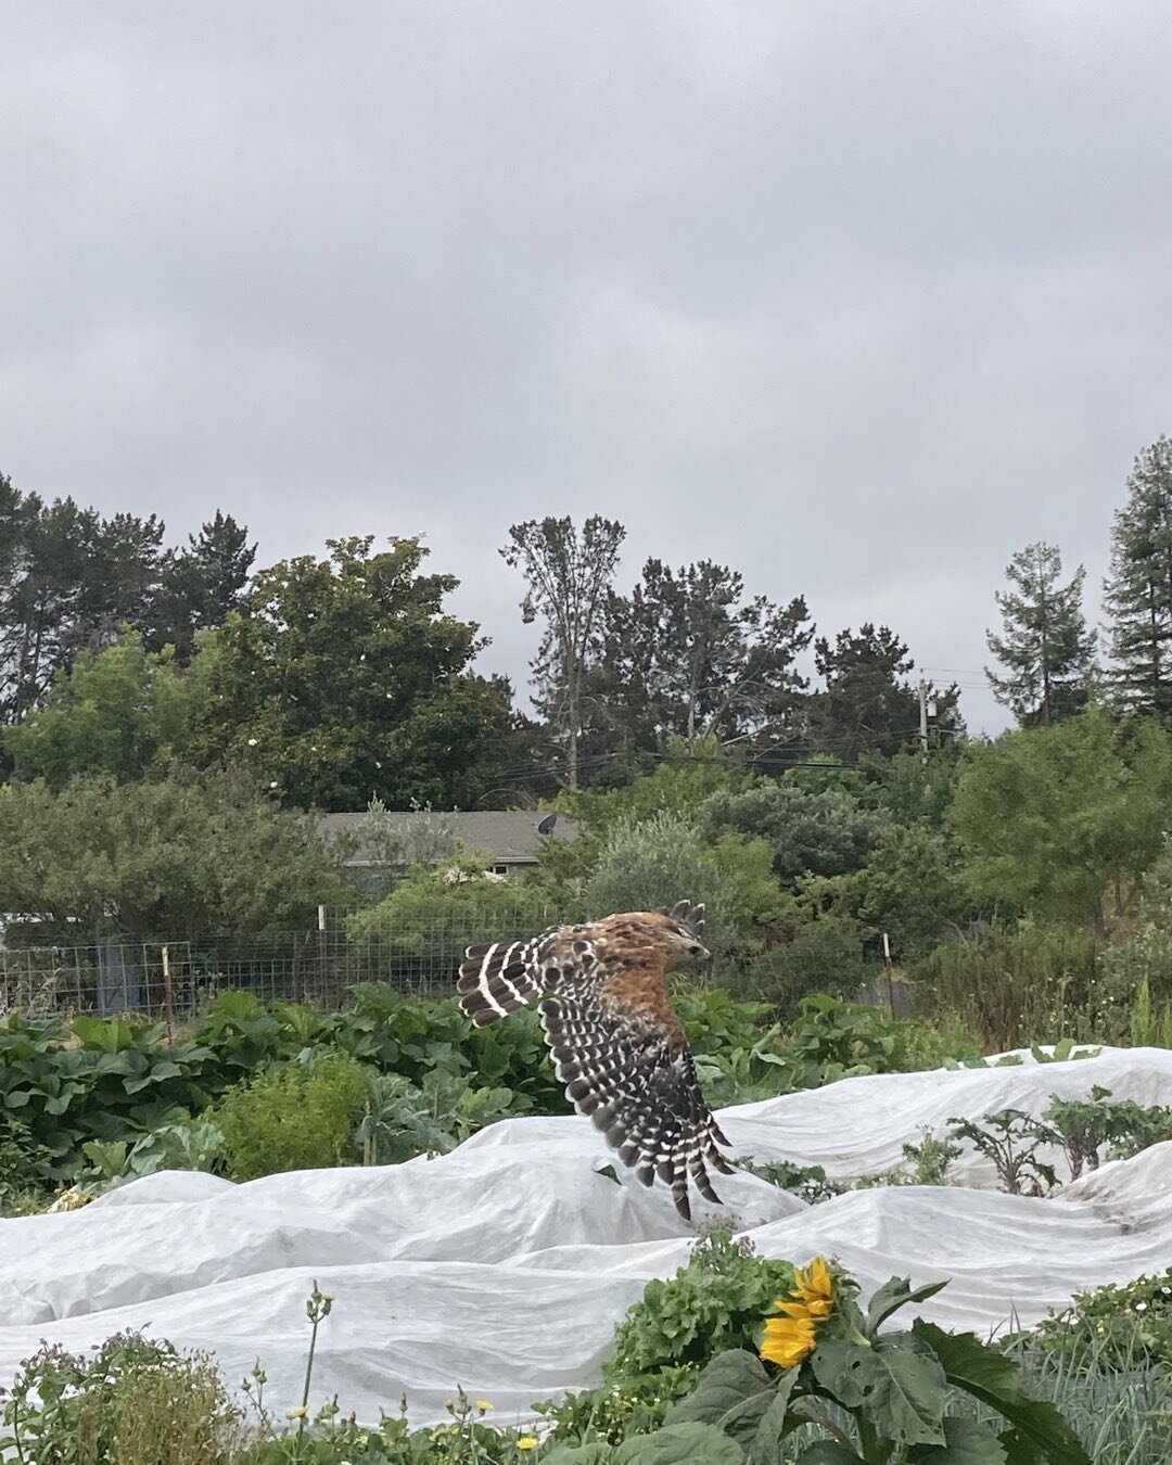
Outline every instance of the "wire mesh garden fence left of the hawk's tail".
[[330, 1008], [359, 982], [450, 995], [466, 946], [535, 935], [567, 919], [532, 900], [494, 901], [423, 907], [378, 927], [324, 911], [318, 927], [305, 932], [0, 946], [0, 1017], [170, 1011], [182, 1020], [224, 990]]

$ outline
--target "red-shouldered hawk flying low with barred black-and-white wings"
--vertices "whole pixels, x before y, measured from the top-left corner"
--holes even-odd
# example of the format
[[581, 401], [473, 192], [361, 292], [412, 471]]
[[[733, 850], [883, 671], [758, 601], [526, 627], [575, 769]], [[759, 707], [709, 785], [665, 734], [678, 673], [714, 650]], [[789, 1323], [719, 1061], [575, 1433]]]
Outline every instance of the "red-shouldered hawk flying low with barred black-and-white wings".
[[703, 905], [689, 901], [627, 911], [532, 941], [469, 946], [457, 982], [461, 1008], [481, 1027], [541, 1004], [565, 1097], [645, 1185], [656, 1175], [671, 1185], [684, 1220], [689, 1176], [719, 1206], [706, 1166], [732, 1173], [665, 980], [708, 955], [703, 930]]

